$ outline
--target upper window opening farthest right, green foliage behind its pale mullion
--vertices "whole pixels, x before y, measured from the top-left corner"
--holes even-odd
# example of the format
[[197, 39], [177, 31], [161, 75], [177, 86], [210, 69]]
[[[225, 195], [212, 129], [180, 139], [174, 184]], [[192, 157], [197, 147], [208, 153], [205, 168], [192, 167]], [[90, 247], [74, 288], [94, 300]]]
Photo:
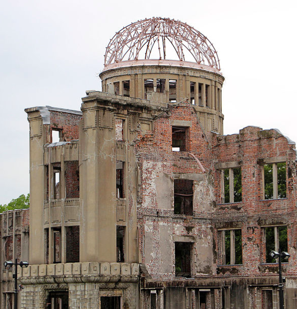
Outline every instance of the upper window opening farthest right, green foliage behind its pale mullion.
[[286, 162], [264, 165], [264, 199], [286, 198]]

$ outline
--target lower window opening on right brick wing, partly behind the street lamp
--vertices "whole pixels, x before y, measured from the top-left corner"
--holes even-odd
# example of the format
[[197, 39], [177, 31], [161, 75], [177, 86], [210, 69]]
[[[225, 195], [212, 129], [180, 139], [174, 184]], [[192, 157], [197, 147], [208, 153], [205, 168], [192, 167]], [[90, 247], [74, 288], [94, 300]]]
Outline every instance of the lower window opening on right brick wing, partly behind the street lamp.
[[[266, 263], [276, 263], [269, 255], [272, 250], [278, 252], [288, 251], [287, 226], [267, 226], [265, 229]], [[286, 262], [282, 259], [282, 262]]]

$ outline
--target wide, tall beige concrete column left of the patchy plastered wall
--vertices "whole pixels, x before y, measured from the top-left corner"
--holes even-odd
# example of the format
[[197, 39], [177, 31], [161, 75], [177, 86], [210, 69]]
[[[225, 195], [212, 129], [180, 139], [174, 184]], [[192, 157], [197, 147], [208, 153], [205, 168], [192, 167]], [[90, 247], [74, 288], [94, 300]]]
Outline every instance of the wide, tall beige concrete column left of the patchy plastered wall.
[[[79, 132], [80, 261], [116, 261], [116, 156], [114, 109], [82, 104]], [[95, 120], [97, 119], [97, 120]]]

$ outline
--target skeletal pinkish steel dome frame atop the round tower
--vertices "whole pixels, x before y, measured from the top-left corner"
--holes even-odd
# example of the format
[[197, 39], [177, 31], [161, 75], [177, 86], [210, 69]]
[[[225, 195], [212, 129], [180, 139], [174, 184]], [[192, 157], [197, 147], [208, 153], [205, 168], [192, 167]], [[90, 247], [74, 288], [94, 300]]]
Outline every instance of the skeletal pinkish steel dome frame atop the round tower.
[[159, 60], [166, 60], [168, 43], [179, 61], [190, 61], [185, 54], [192, 55], [197, 64], [220, 70], [217, 51], [206, 36], [179, 20], [161, 17], [139, 20], [117, 32], [105, 52], [104, 66], [142, 56], [141, 60], [152, 59], [153, 48], [157, 48]]

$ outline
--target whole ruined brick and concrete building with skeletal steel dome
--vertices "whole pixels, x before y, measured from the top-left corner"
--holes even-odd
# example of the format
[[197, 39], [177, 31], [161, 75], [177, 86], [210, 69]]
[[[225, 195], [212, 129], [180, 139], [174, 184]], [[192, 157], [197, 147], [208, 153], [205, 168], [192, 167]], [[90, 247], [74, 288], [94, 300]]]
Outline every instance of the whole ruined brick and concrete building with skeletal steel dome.
[[30, 231], [27, 211], [1, 230], [6, 259], [29, 255], [20, 306], [277, 309], [280, 250], [296, 308], [295, 144], [274, 129], [222, 135], [217, 52], [182, 22], [131, 24], [104, 60], [81, 111], [26, 109]]

